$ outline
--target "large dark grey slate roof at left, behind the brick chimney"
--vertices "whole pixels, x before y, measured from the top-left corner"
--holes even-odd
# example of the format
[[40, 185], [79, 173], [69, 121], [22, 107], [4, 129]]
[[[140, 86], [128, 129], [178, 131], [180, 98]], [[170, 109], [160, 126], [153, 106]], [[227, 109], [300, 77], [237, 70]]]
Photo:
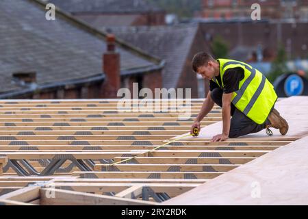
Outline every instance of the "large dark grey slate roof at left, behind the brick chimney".
[[[0, 92], [20, 88], [16, 71], [36, 71], [38, 85], [102, 74], [105, 33], [57, 10], [45, 19], [38, 0], [0, 1]], [[121, 74], [160, 68], [161, 61], [118, 40]]]

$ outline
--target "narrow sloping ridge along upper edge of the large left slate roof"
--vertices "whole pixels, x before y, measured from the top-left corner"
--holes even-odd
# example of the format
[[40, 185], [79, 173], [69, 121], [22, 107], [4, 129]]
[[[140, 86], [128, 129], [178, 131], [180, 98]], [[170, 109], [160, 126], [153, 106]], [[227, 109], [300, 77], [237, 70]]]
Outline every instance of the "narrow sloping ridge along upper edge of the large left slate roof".
[[[42, 8], [45, 8], [48, 2], [44, 2], [42, 0], [27, 0], [31, 3], [36, 3], [40, 5]], [[78, 18], [75, 18], [75, 16], [70, 15], [67, 12], [64, 12], [60, 8], [57, 8], [55, 6], [55, 11], [57, 14], [60, 14], [62, 18], [65, 18], [67, 21], [70, 21], [73, 25], [79, 27], [80, 29], [84, 29], [84, 31], [87, 31], [88, 33], [97, 36], [98, 38], [103, 38], [106, 40], [108, 33], [106, 31], [99, 30], [97, 28], [92, 27], [91, 25], [88, 25], [84, 21], [79, 20]], [[155, 55], [150, 55], [149, 53], [146, 53], [142, 49], [139, 49], [138, 47], [134, 47], [132, 44], [129, 44], [125, 42], [124, 40], [121, 40], [119, 38], [116, 38], [116, 44], [118, 46], [122, 47], [123, 49], [127, 49], [131, 51], [133, 54], [138, 55], [139, 57], [143, 57], [144, 59], [148, 60], [149, 62], [153, 62], [159, 66], [164, 66], [165, 61], [160, 59], [159, 57], [156, 57]]]

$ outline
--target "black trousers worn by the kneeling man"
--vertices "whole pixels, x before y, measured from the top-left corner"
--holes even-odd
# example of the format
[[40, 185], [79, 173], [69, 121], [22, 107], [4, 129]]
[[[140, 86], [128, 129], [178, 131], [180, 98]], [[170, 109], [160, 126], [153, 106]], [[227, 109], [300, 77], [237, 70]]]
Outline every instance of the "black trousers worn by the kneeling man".
[[[215, 88], [211, 92], [211, 99], [213, 99], [213, 101], [220, 107], [222, 107], [222, 93], [223, 91], [221, 88]], [[249, 133], [255, 133], [265, 129], [266, 125], [270, 125], [270, 120], [268, 120], [268, 118], [262, 125], [255, 123], [253, 120], [240, 112], [240, 110], [238, 110], [233, 103], [231, 103], [231, 116], [229, 138], [237, 138]]]

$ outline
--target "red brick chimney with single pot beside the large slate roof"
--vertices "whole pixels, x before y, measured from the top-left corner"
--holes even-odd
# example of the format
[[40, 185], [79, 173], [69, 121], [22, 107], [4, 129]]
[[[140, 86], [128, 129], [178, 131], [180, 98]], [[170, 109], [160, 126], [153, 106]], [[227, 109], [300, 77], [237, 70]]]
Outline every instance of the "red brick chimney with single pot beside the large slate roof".
[[107, 35], [107, 51], [103, 54], [103, 98], [116, 98], [120, 89], [120, 54], [116, 53], [116, 38], [113, 34]]

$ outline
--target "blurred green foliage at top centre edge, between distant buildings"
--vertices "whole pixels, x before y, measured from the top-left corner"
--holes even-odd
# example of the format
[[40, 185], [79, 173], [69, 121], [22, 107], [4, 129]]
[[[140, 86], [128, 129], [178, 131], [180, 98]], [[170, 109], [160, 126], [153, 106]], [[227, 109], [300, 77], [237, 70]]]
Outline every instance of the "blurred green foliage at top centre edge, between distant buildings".
[[179, 18], [191, 18], [194, 12], [201, 10], [201, 0], [147, 0], [166, 10], [168, 14], [177, 14]]

